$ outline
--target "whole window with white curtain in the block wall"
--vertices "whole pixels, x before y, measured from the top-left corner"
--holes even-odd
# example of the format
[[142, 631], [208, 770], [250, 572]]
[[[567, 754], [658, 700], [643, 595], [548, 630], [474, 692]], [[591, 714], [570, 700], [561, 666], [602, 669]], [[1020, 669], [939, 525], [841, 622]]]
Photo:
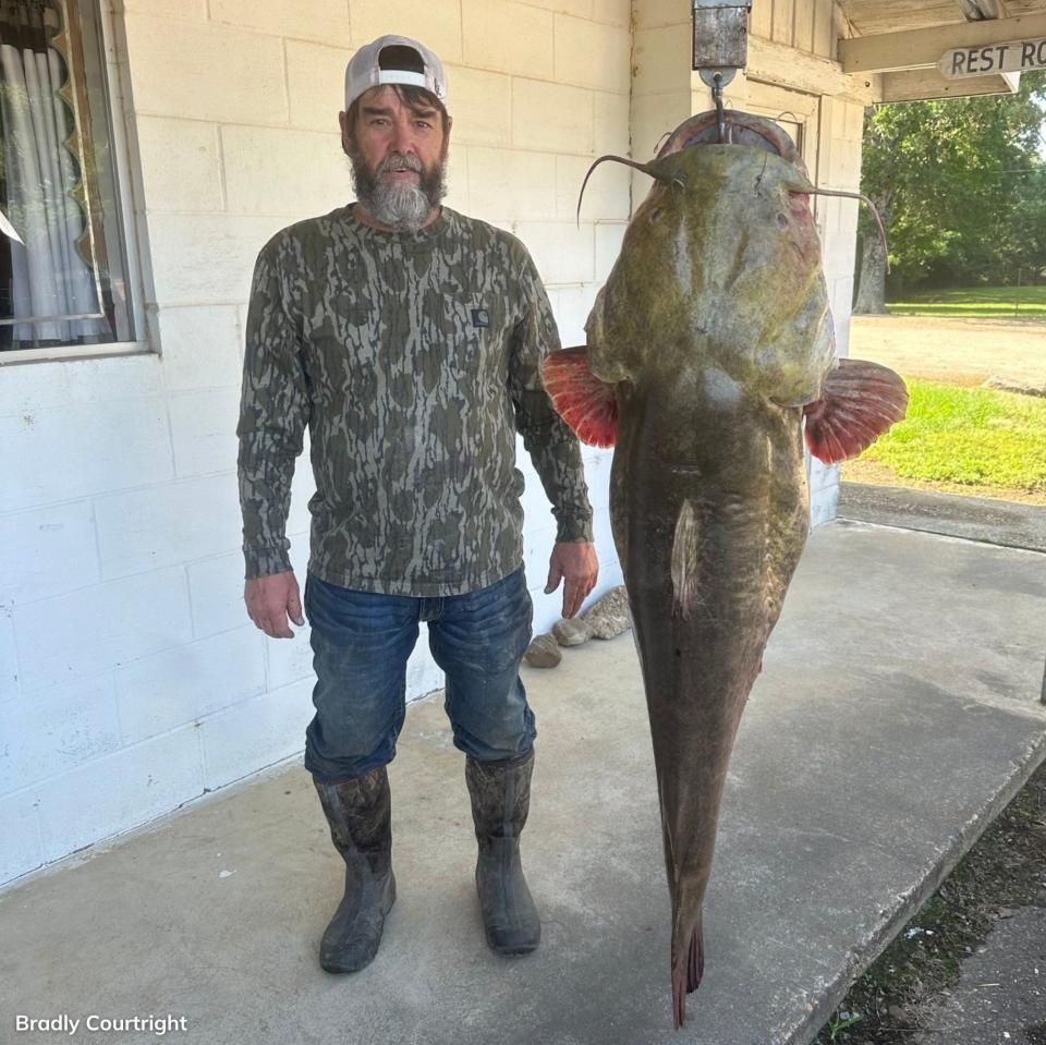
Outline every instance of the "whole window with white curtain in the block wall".
[[130, 351], [98, 0], [0, 0], [0, 364]]

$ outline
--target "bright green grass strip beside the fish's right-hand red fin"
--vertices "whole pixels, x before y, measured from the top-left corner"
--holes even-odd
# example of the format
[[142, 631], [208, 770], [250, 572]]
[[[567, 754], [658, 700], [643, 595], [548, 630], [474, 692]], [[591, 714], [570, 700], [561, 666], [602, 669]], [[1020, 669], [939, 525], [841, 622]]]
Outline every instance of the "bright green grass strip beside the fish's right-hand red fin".
[[844, 479], [1046, 505], [1046, 399], [907, 380], [908, 416]]

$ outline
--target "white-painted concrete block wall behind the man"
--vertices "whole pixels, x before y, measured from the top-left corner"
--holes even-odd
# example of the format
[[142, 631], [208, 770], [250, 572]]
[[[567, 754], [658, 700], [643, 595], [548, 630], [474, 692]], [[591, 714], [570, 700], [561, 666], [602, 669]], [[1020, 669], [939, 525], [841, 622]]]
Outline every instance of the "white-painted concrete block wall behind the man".
[[[450, 78], [448, 204], [515, 232], [580, 343], [617, 253], [629, 181], [629, 0], [123, 0], [136, 217], [157, 354], [0, 370], [0, 883], [299, 752], [307, 635], [246, 620], [235, 488], [242, 339], [255, 256], [351, 198], [345, 62], [417, 36]], [[521, 448], [522, 455], [522, 448]], [[586, 451], [601, 588], [620, 582], [609, 454]], [[527, 473], [535, 625], [554, 520]], [[306, 455], [289, 534], [304, 579]], [[412, 696], [441, 676], [424, 640]]]

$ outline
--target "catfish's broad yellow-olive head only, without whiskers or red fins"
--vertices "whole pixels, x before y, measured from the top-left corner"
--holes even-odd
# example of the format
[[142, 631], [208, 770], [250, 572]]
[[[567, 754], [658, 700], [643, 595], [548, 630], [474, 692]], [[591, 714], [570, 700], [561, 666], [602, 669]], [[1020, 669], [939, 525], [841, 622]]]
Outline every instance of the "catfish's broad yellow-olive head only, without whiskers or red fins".
[[630, 166], [655, 185], [586, 325], [593, 373], [678, 380], [714, 366], [780, 405], [815, 400], [835, 340], [801, 165], [689, 144]]

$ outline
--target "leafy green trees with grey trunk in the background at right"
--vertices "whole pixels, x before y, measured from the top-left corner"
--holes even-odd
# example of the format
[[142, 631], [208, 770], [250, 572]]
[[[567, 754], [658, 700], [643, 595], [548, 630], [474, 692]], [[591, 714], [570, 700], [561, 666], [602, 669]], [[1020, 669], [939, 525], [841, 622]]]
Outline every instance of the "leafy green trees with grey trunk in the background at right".
[[[1046, 266], [1046, 73], [1017, 95], [881, 105], [864, 121], [862, 191], [889, 234], [891, 287], [1007, 282]], [[883, 312], [884, 256], [860, 224], [854, 311]]]

